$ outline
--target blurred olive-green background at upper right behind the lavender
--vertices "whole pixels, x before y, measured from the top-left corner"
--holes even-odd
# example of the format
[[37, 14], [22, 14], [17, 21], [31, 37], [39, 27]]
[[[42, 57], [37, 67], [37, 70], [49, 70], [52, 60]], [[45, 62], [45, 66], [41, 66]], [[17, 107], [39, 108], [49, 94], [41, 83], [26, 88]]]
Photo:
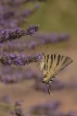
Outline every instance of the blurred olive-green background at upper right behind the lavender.
[[[28, 18], [28, 22], [22, 27], [30, 24], [39, 24], [39, 33], [63, 33], [70, 34], [69, 43], [52, 45], [53, 48], [66, 48], [76, 44], [77, 36], [77, 1], [76, 0], [47, 0], [47, 2], [31, 2], [25, 4], [33, 9], [34, 4], [39, 4], [39, 9]], [[63, 47], [62, 47], [63, 46]]]

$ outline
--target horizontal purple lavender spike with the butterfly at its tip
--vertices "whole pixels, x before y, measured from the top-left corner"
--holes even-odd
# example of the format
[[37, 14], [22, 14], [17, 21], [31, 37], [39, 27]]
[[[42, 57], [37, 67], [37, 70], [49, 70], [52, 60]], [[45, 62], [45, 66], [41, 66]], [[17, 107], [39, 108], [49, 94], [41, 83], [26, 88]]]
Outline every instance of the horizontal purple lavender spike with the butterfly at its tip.
[[36, 55], [30, 55], [26, 56], [24, 54], [17, 56], [15, 54], [7, 54], [4, 53], [3, 56], [0, 58], [1, 63], [11, 66], [11, 65], [16, 65], [16, 66], [25, 66], [31, 62], [37, 62], [40, 60], [41, 54], [36, 54]]

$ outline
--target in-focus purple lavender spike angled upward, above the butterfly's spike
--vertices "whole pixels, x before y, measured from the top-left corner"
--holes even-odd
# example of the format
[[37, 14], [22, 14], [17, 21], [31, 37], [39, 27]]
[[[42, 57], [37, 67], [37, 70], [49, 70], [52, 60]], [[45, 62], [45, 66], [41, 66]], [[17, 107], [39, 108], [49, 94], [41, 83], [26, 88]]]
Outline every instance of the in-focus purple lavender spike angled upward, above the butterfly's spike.
[[0, 33], [0, 43], [5, 43], [8, 40], [13, 40], [16, 38], [21, 38], [22, 36], [33, 35], [39, 30], [39, 25], [30, 25], [27, 31], [24, 28], [13, 28], [13, 30], [3, 30]]

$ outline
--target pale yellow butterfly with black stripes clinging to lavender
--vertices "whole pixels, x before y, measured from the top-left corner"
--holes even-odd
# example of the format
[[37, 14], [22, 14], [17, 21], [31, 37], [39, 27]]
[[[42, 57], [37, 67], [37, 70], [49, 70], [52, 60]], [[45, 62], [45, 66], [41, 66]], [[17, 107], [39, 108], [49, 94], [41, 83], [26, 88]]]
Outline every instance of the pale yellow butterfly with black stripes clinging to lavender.
[[63, 70], [66, 66], [73, 62], [73, 59], [67, 56], [51, 54], [42, 54], [40, 60], [40, 70], [43, 71], [42, 83], [48, 84], [48, 93], [50, 94], [50, 82], [53, 81], [59, 71]]

